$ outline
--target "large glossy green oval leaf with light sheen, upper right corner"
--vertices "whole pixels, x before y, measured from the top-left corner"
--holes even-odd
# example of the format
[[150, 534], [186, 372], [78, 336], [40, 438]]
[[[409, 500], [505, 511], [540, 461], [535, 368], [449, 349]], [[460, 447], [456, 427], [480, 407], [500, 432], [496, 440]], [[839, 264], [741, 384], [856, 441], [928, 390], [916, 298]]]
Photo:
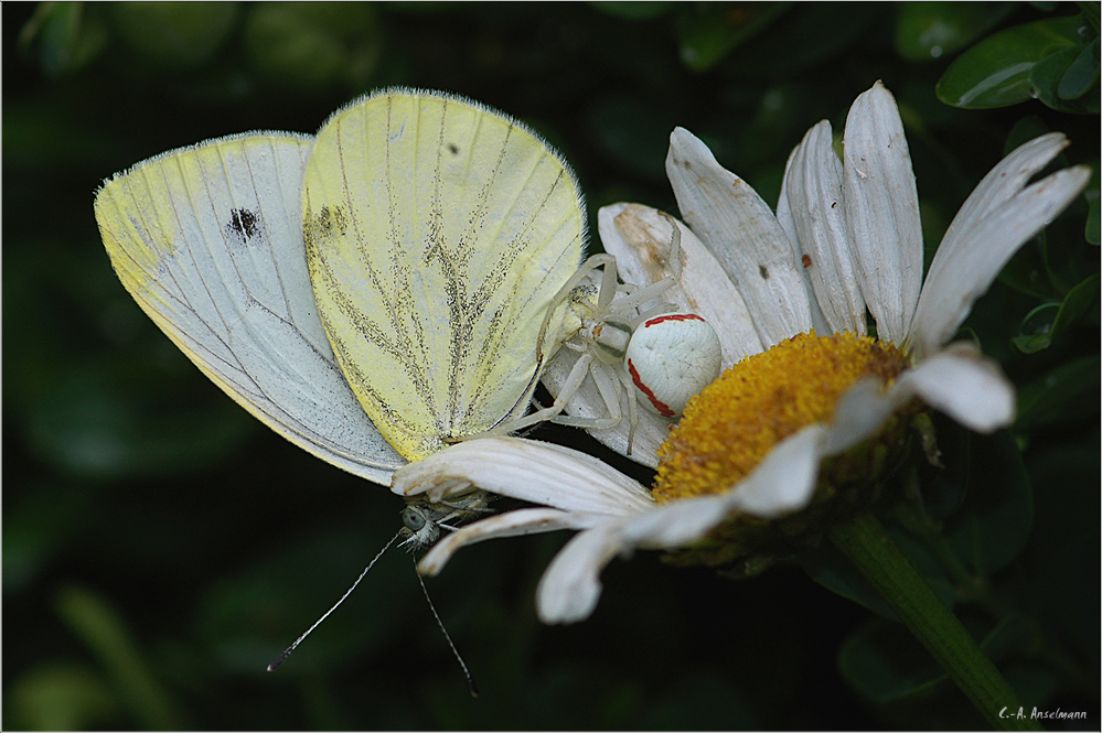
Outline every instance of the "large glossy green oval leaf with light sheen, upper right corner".
[[938, 98], [965, 109], [1006, 107], [1031, 99], [1038, 94], [1031, 79], [1034, 67], [1060, 51], [1072, 50], [1078, 56], [1083, 24], [1082, 15], [1051, 18], [984, 39], [945, 69], [938, 80]]

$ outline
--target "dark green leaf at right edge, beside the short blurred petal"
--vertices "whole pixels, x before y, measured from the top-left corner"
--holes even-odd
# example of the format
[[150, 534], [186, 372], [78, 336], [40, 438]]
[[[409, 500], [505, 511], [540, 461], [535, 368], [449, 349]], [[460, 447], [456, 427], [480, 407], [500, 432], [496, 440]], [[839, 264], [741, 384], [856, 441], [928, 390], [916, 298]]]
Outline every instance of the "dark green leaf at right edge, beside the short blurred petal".
[[1015, 429], [1029, 432], [1039, 428], [1077, 422], [1099, 411], [1099, 376], [1102, 358], [1084, 356], [1062, 364], [1018, 390], [1018, 419]]

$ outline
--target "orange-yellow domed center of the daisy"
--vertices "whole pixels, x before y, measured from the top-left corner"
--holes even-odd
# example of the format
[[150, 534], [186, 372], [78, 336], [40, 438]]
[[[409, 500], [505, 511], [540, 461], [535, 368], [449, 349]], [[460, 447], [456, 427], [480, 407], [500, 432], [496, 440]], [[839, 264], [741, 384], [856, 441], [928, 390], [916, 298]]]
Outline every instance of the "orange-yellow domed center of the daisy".
[[855, 381], [888, 384], [905, 366], [894, 345], [848, 332], [812, 331], [746, 357], [688, 403], [659, 451], [652, 495], [670, 502], [729, 489], [778, 442], [830, 421]]

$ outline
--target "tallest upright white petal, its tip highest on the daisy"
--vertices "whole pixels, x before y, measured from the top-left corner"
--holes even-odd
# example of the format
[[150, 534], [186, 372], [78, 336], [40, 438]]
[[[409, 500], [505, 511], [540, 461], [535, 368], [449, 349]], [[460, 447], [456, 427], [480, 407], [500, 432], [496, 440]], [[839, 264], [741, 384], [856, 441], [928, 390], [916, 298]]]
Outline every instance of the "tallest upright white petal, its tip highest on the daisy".
[[877, 336], [900, 344], [922, 283], [922, 226], [903, 125], [896, 100], [879, 82], [849, 108], [843, 198]]

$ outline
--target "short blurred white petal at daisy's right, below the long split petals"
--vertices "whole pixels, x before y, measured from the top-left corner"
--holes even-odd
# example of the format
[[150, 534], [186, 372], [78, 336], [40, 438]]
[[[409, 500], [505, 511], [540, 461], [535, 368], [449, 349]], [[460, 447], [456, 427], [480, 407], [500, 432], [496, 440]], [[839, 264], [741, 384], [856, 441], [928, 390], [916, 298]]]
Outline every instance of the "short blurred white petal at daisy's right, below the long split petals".
[[908, 369], [894, 389], [921, 398], [977, 432], [989, 433], [1014, 422], [1014, 385], [971, 344], [954, 344]]

